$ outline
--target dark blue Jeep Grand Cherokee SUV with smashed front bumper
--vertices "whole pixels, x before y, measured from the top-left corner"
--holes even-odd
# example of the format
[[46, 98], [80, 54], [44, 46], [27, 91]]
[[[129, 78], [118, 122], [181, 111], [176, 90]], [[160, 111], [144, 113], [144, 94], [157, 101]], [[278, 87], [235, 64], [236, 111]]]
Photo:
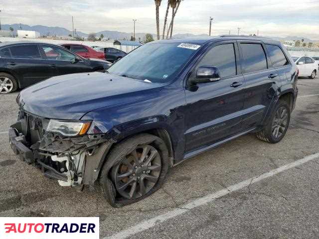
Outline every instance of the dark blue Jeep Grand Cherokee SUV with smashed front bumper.
[[298, 95], [297, 66], [268, 38], [155, 41], [108, 73], [54, 77], [21, 91], [9, 140], [61, 186], [99, 178], [114, 207], [154, 193], [168, 167], [243, 134], [279, 142]]

